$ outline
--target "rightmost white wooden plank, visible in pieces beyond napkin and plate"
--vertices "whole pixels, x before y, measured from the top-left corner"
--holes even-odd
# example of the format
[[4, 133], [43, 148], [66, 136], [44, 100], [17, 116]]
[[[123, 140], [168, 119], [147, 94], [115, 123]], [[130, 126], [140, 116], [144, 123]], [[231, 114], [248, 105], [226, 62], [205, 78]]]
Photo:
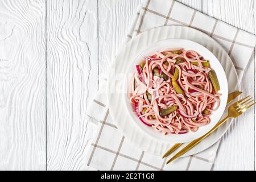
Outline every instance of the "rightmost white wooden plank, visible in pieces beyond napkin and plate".
[[[203, 1], [203, 12], [243, 30], [254, 32], [253, 0]], [[254, 96], [254, 67], [250, 60], [242, 78], [243, 96]], [[235, 119], [222, 138], [214, 170], [254, 169], [254, 111]]]

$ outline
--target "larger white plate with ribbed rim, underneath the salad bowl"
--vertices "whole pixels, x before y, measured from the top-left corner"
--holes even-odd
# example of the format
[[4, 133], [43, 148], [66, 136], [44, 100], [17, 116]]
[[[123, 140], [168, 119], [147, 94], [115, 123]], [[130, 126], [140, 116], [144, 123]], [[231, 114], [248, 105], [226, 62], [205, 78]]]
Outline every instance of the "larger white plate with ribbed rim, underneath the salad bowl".
[[[108, 84], [108, 101], [110, 115], [114, 119], [118, 129], [123, 133], [126, 139], [134, 143], [135, 146], [144, 151], [155, 155], [162, 155], [174, 143], [159, 140], [145, 133], [141, 127], [131, 117], [127, 110], [126, 98], [123, 97], [123, 76], [130, 68], [135, 57], [142, 53], [148, 46], [166, 39], [187, 39], [199, 43], [209, 49], [214, 56], [220, 61], [228, 80], [229, 93], [238, 91], [238, 78], [236, 69], [224, 49], [208, 35], [189, 27], [183, 26], [163, 26], [153, 28], [130, 40], [118, 53], [113, 64], [110, 67], [109, 84]], [[118, 79], [115, 79], [118, 78]], [[220, 79], [221, 80], [221, 79]], [[226, 110], [225, 112], [226, 113]], [[224, 114], [225, 115], [225, 114]], [[223, 115], [222, 115], [223, 116]], [[189, 150], [184, 156], [193, 155], [212, 146], [225, 133], [230, 126], [231, 121], [224, 123], [207, 139], [200, 142], [196, 147]]]

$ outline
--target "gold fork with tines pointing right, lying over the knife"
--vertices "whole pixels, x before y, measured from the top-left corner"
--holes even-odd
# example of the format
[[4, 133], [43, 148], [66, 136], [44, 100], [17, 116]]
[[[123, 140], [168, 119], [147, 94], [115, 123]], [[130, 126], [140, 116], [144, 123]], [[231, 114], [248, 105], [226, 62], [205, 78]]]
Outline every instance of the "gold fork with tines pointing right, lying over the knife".
[[[247, 109], [249, 109], [251, 106], [256, 104], [256, 102], [254, 102], [253, 98], [251, 98], [251, 97], [249, 98], [249, 97], [250, 96], [247, 96], [247, 97], [241, 99], [240, 101], [237, 101], [234, 104], [232, 104], [231, 106], [229, 106], [228, 115], [224, 119], [222, 119], [220, 122], [218, 122], [216, 127], [214, 127], [212, 130], [208, 131], [208, 133], [203, 135], [202, 137], [193, 140], [191, 143], [189, 143], [187, 146], [185, 146], [183, 149], [181, 149], [179, 152], [177, 152], [177, 154], [174, 155], [170, 160], [168, 160], [166, 164], [179, 158], [179, 156], [185, 154], [185, 152], [187, 152], [188, 150], [191, 150], [191, 148], [196, 146], [196, 144], [200, 143], [203, 139], [207, 138], [208, 135], [213, 133], [213, 131], [215, 131], [218, 127], [220, 127], [223, 123], [225, 123], [229, 118], [237, 118], [242, 113], [244, 113]], [[254, 102], [254, 103], [251, 104], [252, 102]]]

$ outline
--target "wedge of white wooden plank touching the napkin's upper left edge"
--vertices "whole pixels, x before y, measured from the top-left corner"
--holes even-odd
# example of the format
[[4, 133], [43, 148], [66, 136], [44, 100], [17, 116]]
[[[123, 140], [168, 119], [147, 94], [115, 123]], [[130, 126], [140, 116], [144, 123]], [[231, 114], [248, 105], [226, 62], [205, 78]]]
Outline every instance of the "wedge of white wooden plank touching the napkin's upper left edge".
[[99, 77], [108, 74], [109, 64], [125, 41], [141, 2], [142, 0], [98, 2]]

